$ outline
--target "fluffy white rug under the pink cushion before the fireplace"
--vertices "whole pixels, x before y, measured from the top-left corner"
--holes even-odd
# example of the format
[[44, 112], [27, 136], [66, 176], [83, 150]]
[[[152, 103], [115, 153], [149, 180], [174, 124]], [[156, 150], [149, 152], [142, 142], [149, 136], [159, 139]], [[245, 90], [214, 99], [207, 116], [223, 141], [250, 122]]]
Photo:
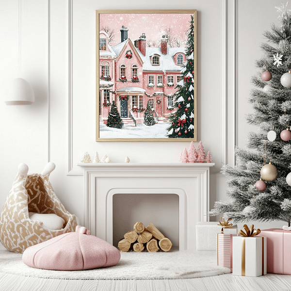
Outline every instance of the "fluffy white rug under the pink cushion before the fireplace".
[[113, 267], [53, 271], [31, 268], [22, 262], [22, 254], [0, 250], [0, 272], [51, 279], [144, 280], [222, 275], [230, 273], [230, 269], [216, 265], [215, 251], [122, 252]]

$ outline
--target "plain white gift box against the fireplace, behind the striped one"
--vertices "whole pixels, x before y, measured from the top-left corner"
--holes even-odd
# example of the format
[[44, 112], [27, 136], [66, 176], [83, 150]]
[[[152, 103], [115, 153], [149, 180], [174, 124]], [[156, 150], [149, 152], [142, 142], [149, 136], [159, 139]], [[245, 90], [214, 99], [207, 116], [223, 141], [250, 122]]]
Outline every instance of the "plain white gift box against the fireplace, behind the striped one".
[[[217, 234], [221, 233], [219, 222], [198, 222], [196, 224], [196, 250], [216, 251]], [[225, 234], [237, 234], [237, 225], [224, 228]]]

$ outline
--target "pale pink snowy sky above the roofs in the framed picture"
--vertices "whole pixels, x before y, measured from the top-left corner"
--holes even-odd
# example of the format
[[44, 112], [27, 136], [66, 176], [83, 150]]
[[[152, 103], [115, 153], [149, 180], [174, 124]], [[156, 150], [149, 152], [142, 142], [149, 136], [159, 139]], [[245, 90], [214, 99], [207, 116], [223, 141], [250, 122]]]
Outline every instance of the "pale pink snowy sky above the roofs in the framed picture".
[[185, 32], [189, 29], [191, 14], [99, 14], [100, 30], [102, 26], [114, 29], [115, 38], [111, 46], [121, 42], [120, 29], [128, 28], [128, 36], [134, 41], [143, 32], [147, 40], [160, 40], [165, 27], [171, 27], [175, 35], [187, 39]]

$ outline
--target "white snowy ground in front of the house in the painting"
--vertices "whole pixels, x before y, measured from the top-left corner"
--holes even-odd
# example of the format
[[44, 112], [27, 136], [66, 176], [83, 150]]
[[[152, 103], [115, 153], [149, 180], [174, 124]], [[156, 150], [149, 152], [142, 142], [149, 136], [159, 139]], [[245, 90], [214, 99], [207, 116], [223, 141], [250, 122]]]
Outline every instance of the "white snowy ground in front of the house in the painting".
[[157, 123], [152, 126], [138, 124], [136, 127], [123, 127], [114, 129], [106, 126], [104, 123], [99, 124], [100, 138], [168, 138], [167, 128], [170, 127], [168, 122]]

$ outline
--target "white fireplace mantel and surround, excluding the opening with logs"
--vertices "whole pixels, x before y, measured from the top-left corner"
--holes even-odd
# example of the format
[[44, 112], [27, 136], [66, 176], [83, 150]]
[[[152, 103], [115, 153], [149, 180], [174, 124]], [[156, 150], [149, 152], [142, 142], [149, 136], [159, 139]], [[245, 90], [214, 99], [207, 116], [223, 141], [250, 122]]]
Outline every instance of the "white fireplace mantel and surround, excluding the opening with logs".
[[195, 248], [195, 225], [209, 221], [210, 167], [214, 163], [78, 163], [84, 173], [84, 223], [113, 241], [114, 194], [177, 194], [179, 249]]

